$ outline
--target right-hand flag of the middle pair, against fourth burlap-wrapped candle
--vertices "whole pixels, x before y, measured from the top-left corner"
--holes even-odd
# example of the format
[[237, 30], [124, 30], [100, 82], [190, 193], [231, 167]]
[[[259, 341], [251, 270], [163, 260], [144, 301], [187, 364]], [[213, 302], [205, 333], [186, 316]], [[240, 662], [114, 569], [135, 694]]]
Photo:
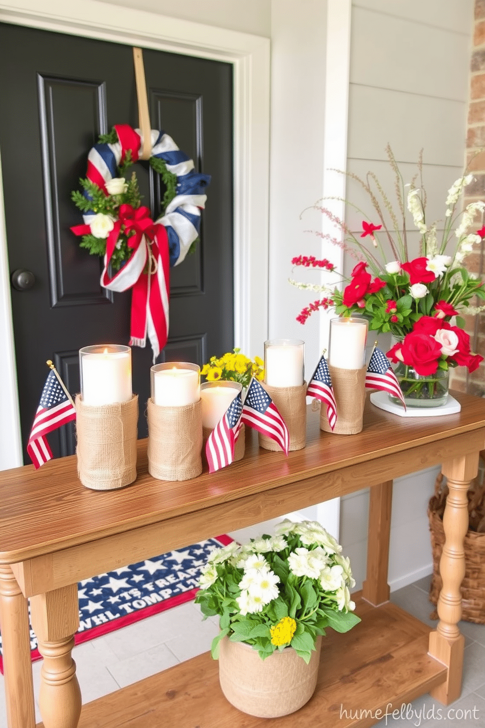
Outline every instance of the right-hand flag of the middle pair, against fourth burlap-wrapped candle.
[[241, 420], [249, 427], [254, 427], [254, 430], [261, 432], [262, 435], [268, 435], [269, 438], [275, 440], [284, 454], [288, 455], [288, 427], [268, 392], [254, 377], [247, 390]]

